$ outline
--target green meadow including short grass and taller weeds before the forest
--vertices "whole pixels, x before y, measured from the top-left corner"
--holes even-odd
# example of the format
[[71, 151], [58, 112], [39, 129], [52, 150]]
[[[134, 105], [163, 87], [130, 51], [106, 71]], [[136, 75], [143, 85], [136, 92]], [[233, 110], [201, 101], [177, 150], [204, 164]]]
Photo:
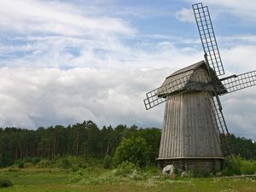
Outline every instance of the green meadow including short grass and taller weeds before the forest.
[[[13, 186], [7, 192], [79, 192], [79, 191], [173, 191], [173, 192], [255, 192], [256, 177], [170, 177], [162, 176], [156, 166], [138, 169], [126, 163], [113, 168], [90, 160], [43, 160], [33, 165], [26, 163], [0, 169], [0, 178], [7, 178]], [[74, 160], [73, 160], [74, 161]], [[82, 163], [81, 163], [82, 162]]]

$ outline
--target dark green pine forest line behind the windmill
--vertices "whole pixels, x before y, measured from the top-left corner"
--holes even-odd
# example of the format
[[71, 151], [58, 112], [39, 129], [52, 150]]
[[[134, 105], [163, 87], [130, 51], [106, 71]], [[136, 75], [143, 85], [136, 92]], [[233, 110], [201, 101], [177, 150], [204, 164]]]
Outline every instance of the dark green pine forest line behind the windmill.
[[[55, 158], [73, 155], [103, 158], [113, 155], [124, 138], [142, 137], [151, 163], [155, 163], [160, 146], [161, 130], [138, 128], [136, 125], [103, 126], [102, 129], [91, 120], [75, 125], [55, 125], [37, 130], [15, 127], [0, 128], [0, 166], [9, 166], [25, 158]], [[231, 135], [229, 140], [235, 154], [245, 159], [256, 159], [256, 143], [244, 137]]]

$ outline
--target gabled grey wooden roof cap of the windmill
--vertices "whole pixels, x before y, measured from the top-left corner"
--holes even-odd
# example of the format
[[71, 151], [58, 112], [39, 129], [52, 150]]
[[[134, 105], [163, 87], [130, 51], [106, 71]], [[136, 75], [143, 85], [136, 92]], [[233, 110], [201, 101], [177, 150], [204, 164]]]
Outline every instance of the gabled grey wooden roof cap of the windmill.
[[[184, 67], [166, 77], [165, 82], [158, 89], [158, 96], [166, 97], [174, 92], [183, 90], [214, 90], [210, 82], [217, 81], [217, 93], [226, 92], [224, 85], [219, 81], [218, 76], [210, 68], [209, 75], [205, 61], [199, 61], [189, 67]], [[207, 84], [210, 83], [210, 84]]]

